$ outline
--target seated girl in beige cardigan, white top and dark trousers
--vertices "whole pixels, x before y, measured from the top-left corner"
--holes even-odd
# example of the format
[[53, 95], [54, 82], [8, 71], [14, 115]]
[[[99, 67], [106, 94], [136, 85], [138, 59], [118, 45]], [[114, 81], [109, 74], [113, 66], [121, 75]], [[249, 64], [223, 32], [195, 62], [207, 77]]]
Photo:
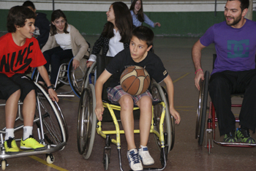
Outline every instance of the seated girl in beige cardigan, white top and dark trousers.
[[[76, 69], [80, 64], [80, 59], [88, 53], [89, 45], [86, 39], [72, 25], [67, 23], [66, 15], [61, 9], [53, 11], [51, 15], [50, 36], [48, 42], [42, 47], [47, 64], [45, 68], [50, 72], [50, 83], [55, 84], [61, 66], [61, 60], [71, 59], [75, 56], [72, 66]], [[42, 77], [39, 77], [42, 81]]]

